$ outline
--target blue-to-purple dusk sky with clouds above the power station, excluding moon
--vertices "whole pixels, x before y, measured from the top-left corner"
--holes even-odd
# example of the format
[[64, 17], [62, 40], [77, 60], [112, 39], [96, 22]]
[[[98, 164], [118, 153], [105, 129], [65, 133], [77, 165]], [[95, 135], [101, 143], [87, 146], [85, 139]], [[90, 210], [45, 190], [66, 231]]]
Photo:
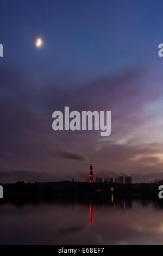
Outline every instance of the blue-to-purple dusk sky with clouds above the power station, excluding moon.
[[[1, 1], [0, 181], [163, 177], [162, 1]], [[43, 46], [35, 47], [35, 40]], [[111, 111], [111, 135], [52, 113]]]

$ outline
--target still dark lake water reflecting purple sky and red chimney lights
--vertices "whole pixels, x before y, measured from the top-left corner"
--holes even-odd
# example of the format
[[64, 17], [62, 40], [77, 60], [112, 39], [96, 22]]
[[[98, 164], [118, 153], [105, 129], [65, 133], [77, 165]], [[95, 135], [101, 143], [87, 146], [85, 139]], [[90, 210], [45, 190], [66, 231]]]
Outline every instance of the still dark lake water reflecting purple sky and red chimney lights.
[[163, 203], [64, 197], [0, 202], [1, 245], [163, 245]]

